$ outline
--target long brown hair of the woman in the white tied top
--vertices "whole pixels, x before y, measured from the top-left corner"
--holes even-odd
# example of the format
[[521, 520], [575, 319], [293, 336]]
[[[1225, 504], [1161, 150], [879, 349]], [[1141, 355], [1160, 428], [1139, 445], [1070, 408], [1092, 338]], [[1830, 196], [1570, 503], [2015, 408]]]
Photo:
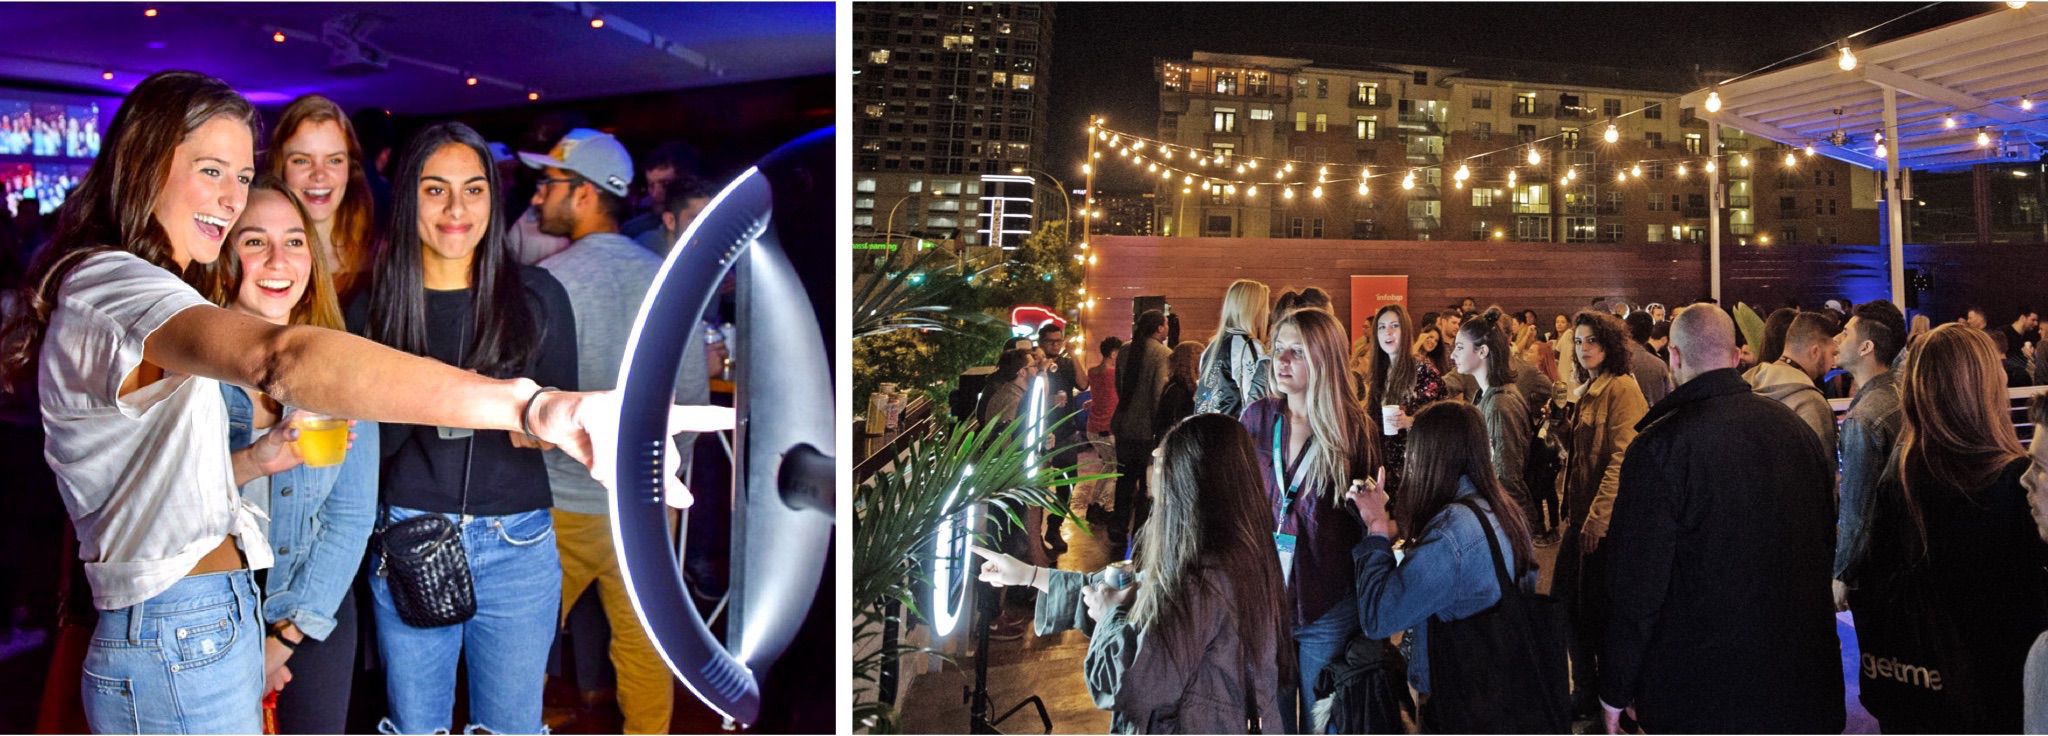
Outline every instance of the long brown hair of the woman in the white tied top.
[[211, 279], [209, 267], [201, 262], [178, 269], [170, 234], [152, 211], [178, 144], [215, 117], [246, 123], [252, 139], [262, 131], [262, 119], [240, 92], [199, 72], [152, 74], [121, 100], [106, 125], [100, 156], [57, 209], [57, 230], [29, 267], [23, 310], [0, 328], [0, 377], [8, 392], [18, 392], [33, 379], [49, 316], [57, 308], [57, 289], [86, 258], [129, 252], [184, 277], [195, 289]]

